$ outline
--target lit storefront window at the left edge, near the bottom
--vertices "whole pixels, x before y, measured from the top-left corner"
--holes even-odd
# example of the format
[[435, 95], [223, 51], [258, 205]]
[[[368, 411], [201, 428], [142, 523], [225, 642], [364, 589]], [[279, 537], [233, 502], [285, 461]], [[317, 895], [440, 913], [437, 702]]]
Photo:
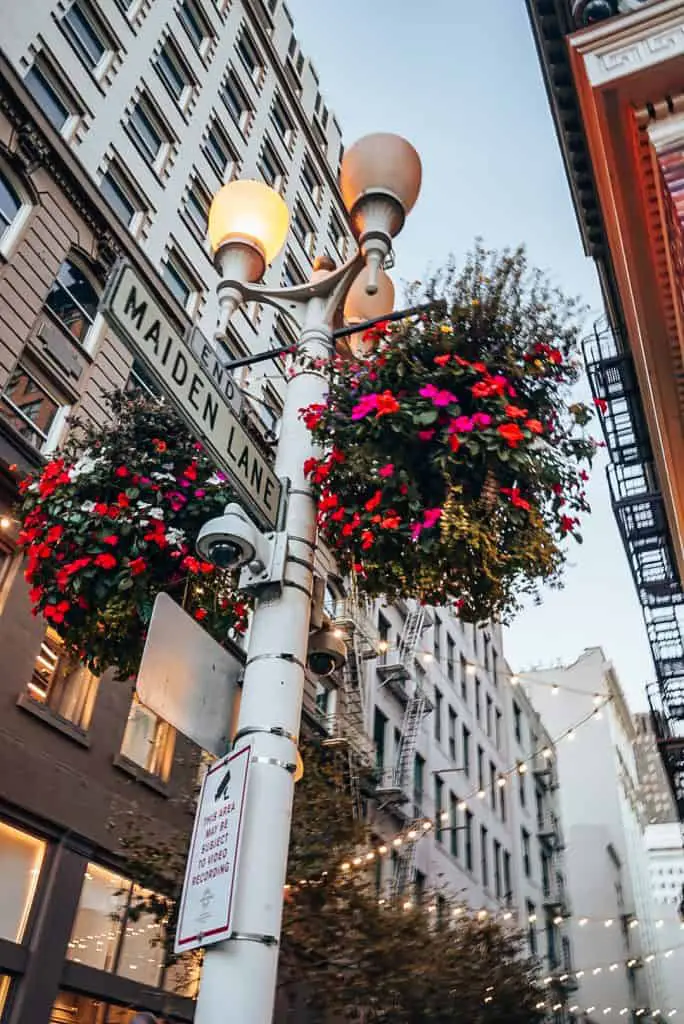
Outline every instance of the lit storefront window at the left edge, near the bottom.
[[0, 938], [22, 942], [44, 855], [45, 843], [0, 821]]

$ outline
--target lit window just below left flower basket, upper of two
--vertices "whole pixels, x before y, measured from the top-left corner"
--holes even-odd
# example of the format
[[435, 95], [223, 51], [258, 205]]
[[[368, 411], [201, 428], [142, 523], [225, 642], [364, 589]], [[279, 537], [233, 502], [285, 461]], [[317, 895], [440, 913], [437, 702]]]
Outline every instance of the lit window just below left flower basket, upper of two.
[[84, 731], [90, 725], [97, 677], [65, 652], [59, 635], [49, 627], [27, 686], [32, 700]]

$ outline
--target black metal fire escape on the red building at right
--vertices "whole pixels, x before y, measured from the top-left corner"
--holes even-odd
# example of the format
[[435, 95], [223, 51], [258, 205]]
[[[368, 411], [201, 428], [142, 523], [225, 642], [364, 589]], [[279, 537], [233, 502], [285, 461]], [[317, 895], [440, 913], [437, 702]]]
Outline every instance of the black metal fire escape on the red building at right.
[[585, 341], [592, 393], [612, 465], [611, 503], [643, 608], [655, 665], [648, 687], [653, 727], [684, 820], [684, 592], [672, 548], [632, 355], [606, 319]]

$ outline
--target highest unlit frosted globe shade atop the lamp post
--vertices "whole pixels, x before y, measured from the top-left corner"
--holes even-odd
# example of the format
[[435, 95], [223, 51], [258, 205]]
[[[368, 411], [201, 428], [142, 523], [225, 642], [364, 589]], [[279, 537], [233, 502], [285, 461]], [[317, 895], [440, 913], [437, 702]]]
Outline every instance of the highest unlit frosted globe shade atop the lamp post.
[[340, 169], [340, 187], [350, 212], [370, 194], [395, 199], [404, 215], [416, 205], [421, 188], [421, 160], [400, 135], [376, 132], [346, 151]]

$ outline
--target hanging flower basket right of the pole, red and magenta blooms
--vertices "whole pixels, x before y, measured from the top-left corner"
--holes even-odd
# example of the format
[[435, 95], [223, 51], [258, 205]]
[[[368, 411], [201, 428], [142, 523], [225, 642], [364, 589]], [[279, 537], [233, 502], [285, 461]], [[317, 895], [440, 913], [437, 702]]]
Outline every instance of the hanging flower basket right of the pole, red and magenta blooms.
[[426, 291], [443, 316], [374, 329], [375, 353], [338, 357], [327, 403], [302, 410], [323, 451], [305, 471], [320, 532], [366, 593], [506, 618], [559, 584], [589, 510], [579, 310], [522, 250], [478, 245]]

